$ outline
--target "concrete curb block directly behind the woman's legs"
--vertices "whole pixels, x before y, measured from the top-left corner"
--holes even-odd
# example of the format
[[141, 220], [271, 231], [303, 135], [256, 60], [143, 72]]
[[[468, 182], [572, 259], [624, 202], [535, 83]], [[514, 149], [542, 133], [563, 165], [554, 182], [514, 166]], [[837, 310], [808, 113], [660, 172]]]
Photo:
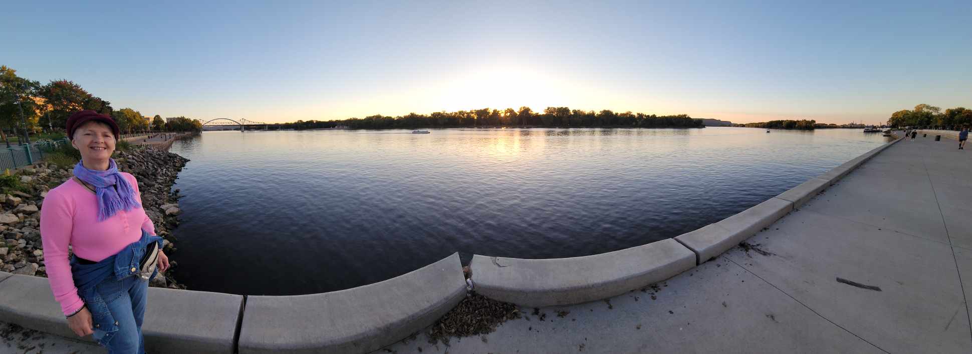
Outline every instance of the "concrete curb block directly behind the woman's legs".
[[[148, 297], [142, 326], [147, 351], [233, 352], [242, 296], [149, 288]], [[0, 282], [0, 318], [29, 329], [79, 339], [68, 328], [44, 277], [13, 275]]]

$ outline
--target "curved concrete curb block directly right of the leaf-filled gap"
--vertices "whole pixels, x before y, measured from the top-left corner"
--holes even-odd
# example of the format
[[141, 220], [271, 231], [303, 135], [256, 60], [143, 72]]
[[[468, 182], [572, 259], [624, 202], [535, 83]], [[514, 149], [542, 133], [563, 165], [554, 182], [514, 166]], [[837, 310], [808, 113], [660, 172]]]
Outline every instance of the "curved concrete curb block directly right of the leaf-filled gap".
[[695, 267], [695, 253], [669, 239], [591, 256], [519, 259], [473, 255], [476, 292], [520, 306], [607, 299]]

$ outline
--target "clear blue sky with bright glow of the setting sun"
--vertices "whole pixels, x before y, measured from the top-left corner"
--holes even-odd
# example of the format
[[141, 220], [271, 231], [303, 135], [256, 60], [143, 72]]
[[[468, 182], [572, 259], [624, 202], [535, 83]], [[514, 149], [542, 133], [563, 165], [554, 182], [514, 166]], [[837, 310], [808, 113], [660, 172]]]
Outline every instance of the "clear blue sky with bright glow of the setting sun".
[[879, 123], [972, 108], [972, 1], [13, 1], [0, 64], [145, 115], [548, 106]]

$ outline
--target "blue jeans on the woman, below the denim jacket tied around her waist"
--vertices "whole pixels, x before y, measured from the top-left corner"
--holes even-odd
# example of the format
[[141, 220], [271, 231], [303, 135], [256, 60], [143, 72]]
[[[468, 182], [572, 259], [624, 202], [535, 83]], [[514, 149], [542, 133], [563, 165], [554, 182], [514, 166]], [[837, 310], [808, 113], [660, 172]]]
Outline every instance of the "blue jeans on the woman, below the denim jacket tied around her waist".
[[119, 330], [106, 333], [95, 328], [94, 339], [107, 347], [109, 354], [144, 354], [142, 319], [145, 317], [149, 282], [138, 276], [128, 276], [121, 280], [108, 277], [98, 283], [95, 291], [104, 299]]

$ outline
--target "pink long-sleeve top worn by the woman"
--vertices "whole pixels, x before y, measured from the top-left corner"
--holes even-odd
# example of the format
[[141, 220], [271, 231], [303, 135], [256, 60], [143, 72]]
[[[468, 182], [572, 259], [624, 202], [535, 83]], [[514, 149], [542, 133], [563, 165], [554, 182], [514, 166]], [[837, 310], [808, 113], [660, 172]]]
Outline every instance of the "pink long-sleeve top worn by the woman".
[[[139, 205], [142, 194], [131, 174], [121, 173]], [[54, 300], [65, 315], [77, 311], [85, 302], [71, 277], [68, 244], [78, 257], [99, 262], [142, 238], [142, 230], [156, 234], [156, 226], [145, 209], [119, 210], [104, 221], [98, 221], [98, 201], [94, 192], [73, 177], [48, 192], [41, 208], [41, 239], [44, 243], [44, 265]]]

